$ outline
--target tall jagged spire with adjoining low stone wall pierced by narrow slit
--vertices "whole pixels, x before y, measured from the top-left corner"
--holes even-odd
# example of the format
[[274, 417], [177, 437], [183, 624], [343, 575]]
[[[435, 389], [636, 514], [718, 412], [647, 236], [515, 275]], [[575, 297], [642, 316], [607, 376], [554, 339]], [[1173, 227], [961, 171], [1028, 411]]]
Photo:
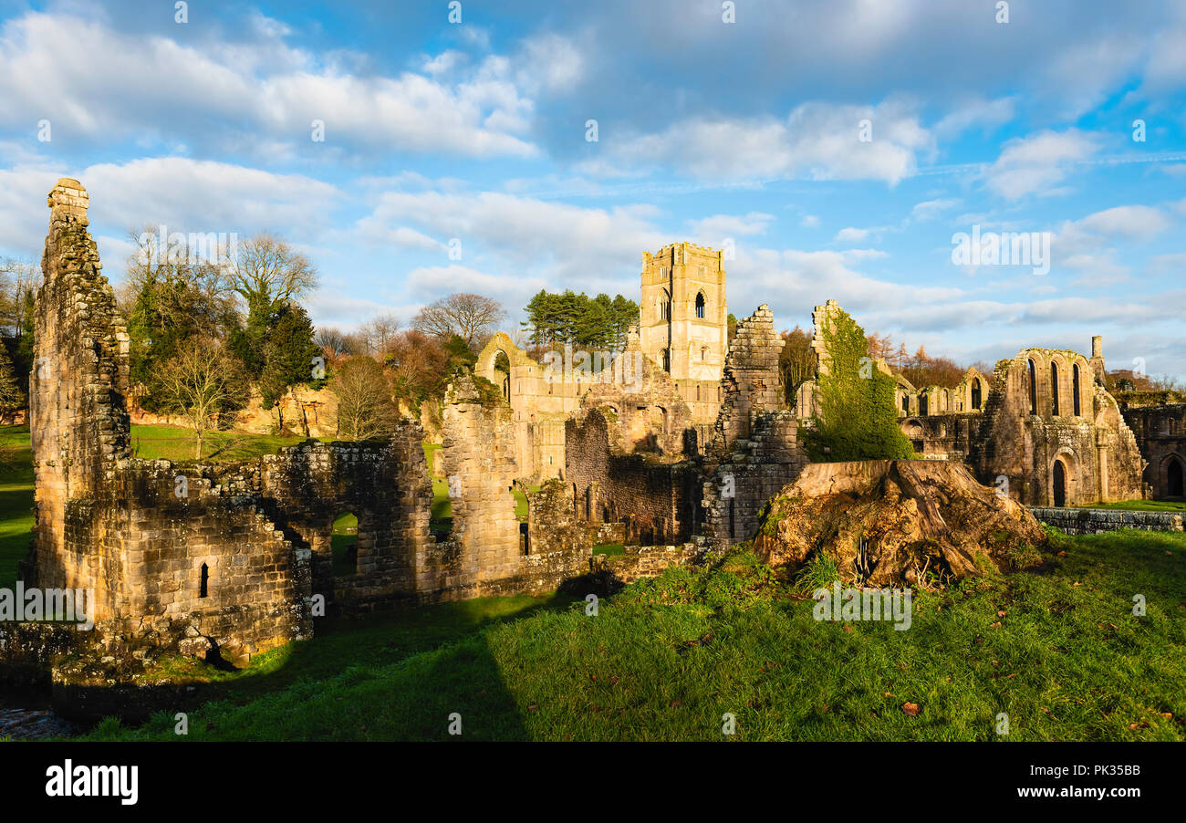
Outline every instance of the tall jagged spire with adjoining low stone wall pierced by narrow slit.
[[[253, 502], [130, 458], [128, 338], [95, 242], [89, 198], [49, 196], [30, 376], [36, 525], [26, 585], [91, 589], [96, 621], [140, 642], [250, 655], [307, 636], [308, 555]], [[196, 649], [195, 649], [196, 651]]]

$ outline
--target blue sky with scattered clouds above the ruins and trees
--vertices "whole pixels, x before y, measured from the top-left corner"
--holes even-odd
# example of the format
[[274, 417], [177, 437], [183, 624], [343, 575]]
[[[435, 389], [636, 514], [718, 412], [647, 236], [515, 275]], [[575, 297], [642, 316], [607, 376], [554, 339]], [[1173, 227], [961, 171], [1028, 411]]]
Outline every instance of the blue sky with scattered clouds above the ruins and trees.
[[1102, 334], [1186, 377], [1182, 0], [0, 0], [0, 256], [39, 261], [59, 177], [113, 282], [138, 227], [273, 231], [344, 331], [637, 300], [689, 241], [737, 317], [835, 299], [963, 364]]

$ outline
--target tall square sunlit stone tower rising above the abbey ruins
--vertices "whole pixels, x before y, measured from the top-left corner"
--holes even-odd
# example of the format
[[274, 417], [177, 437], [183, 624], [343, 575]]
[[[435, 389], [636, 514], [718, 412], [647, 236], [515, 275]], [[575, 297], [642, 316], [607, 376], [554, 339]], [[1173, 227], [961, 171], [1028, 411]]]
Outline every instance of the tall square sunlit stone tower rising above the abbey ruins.
[[728, 349], [721, 262], [720, 251], [693, 243], [643, 254], [639, 343], [677, 383], [721, 379]]

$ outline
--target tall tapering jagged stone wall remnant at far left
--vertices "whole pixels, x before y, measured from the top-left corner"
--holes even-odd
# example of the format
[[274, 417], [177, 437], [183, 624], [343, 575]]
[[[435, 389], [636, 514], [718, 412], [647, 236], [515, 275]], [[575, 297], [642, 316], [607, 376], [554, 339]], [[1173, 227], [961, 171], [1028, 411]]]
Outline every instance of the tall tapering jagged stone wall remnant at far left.
[[122, 569], [110, 542], [100, 551], [78, 548], [94, 511], [71, 510], [71, 500], [104, 497], [116, 464], [129, 454], [128, 337], [87, 232], [88, 204], [87, 191], [70, 178], [49, 194], [28, 391], [37, 524], [23, 569], [42, 587], [94, 588], [102, 618]]

